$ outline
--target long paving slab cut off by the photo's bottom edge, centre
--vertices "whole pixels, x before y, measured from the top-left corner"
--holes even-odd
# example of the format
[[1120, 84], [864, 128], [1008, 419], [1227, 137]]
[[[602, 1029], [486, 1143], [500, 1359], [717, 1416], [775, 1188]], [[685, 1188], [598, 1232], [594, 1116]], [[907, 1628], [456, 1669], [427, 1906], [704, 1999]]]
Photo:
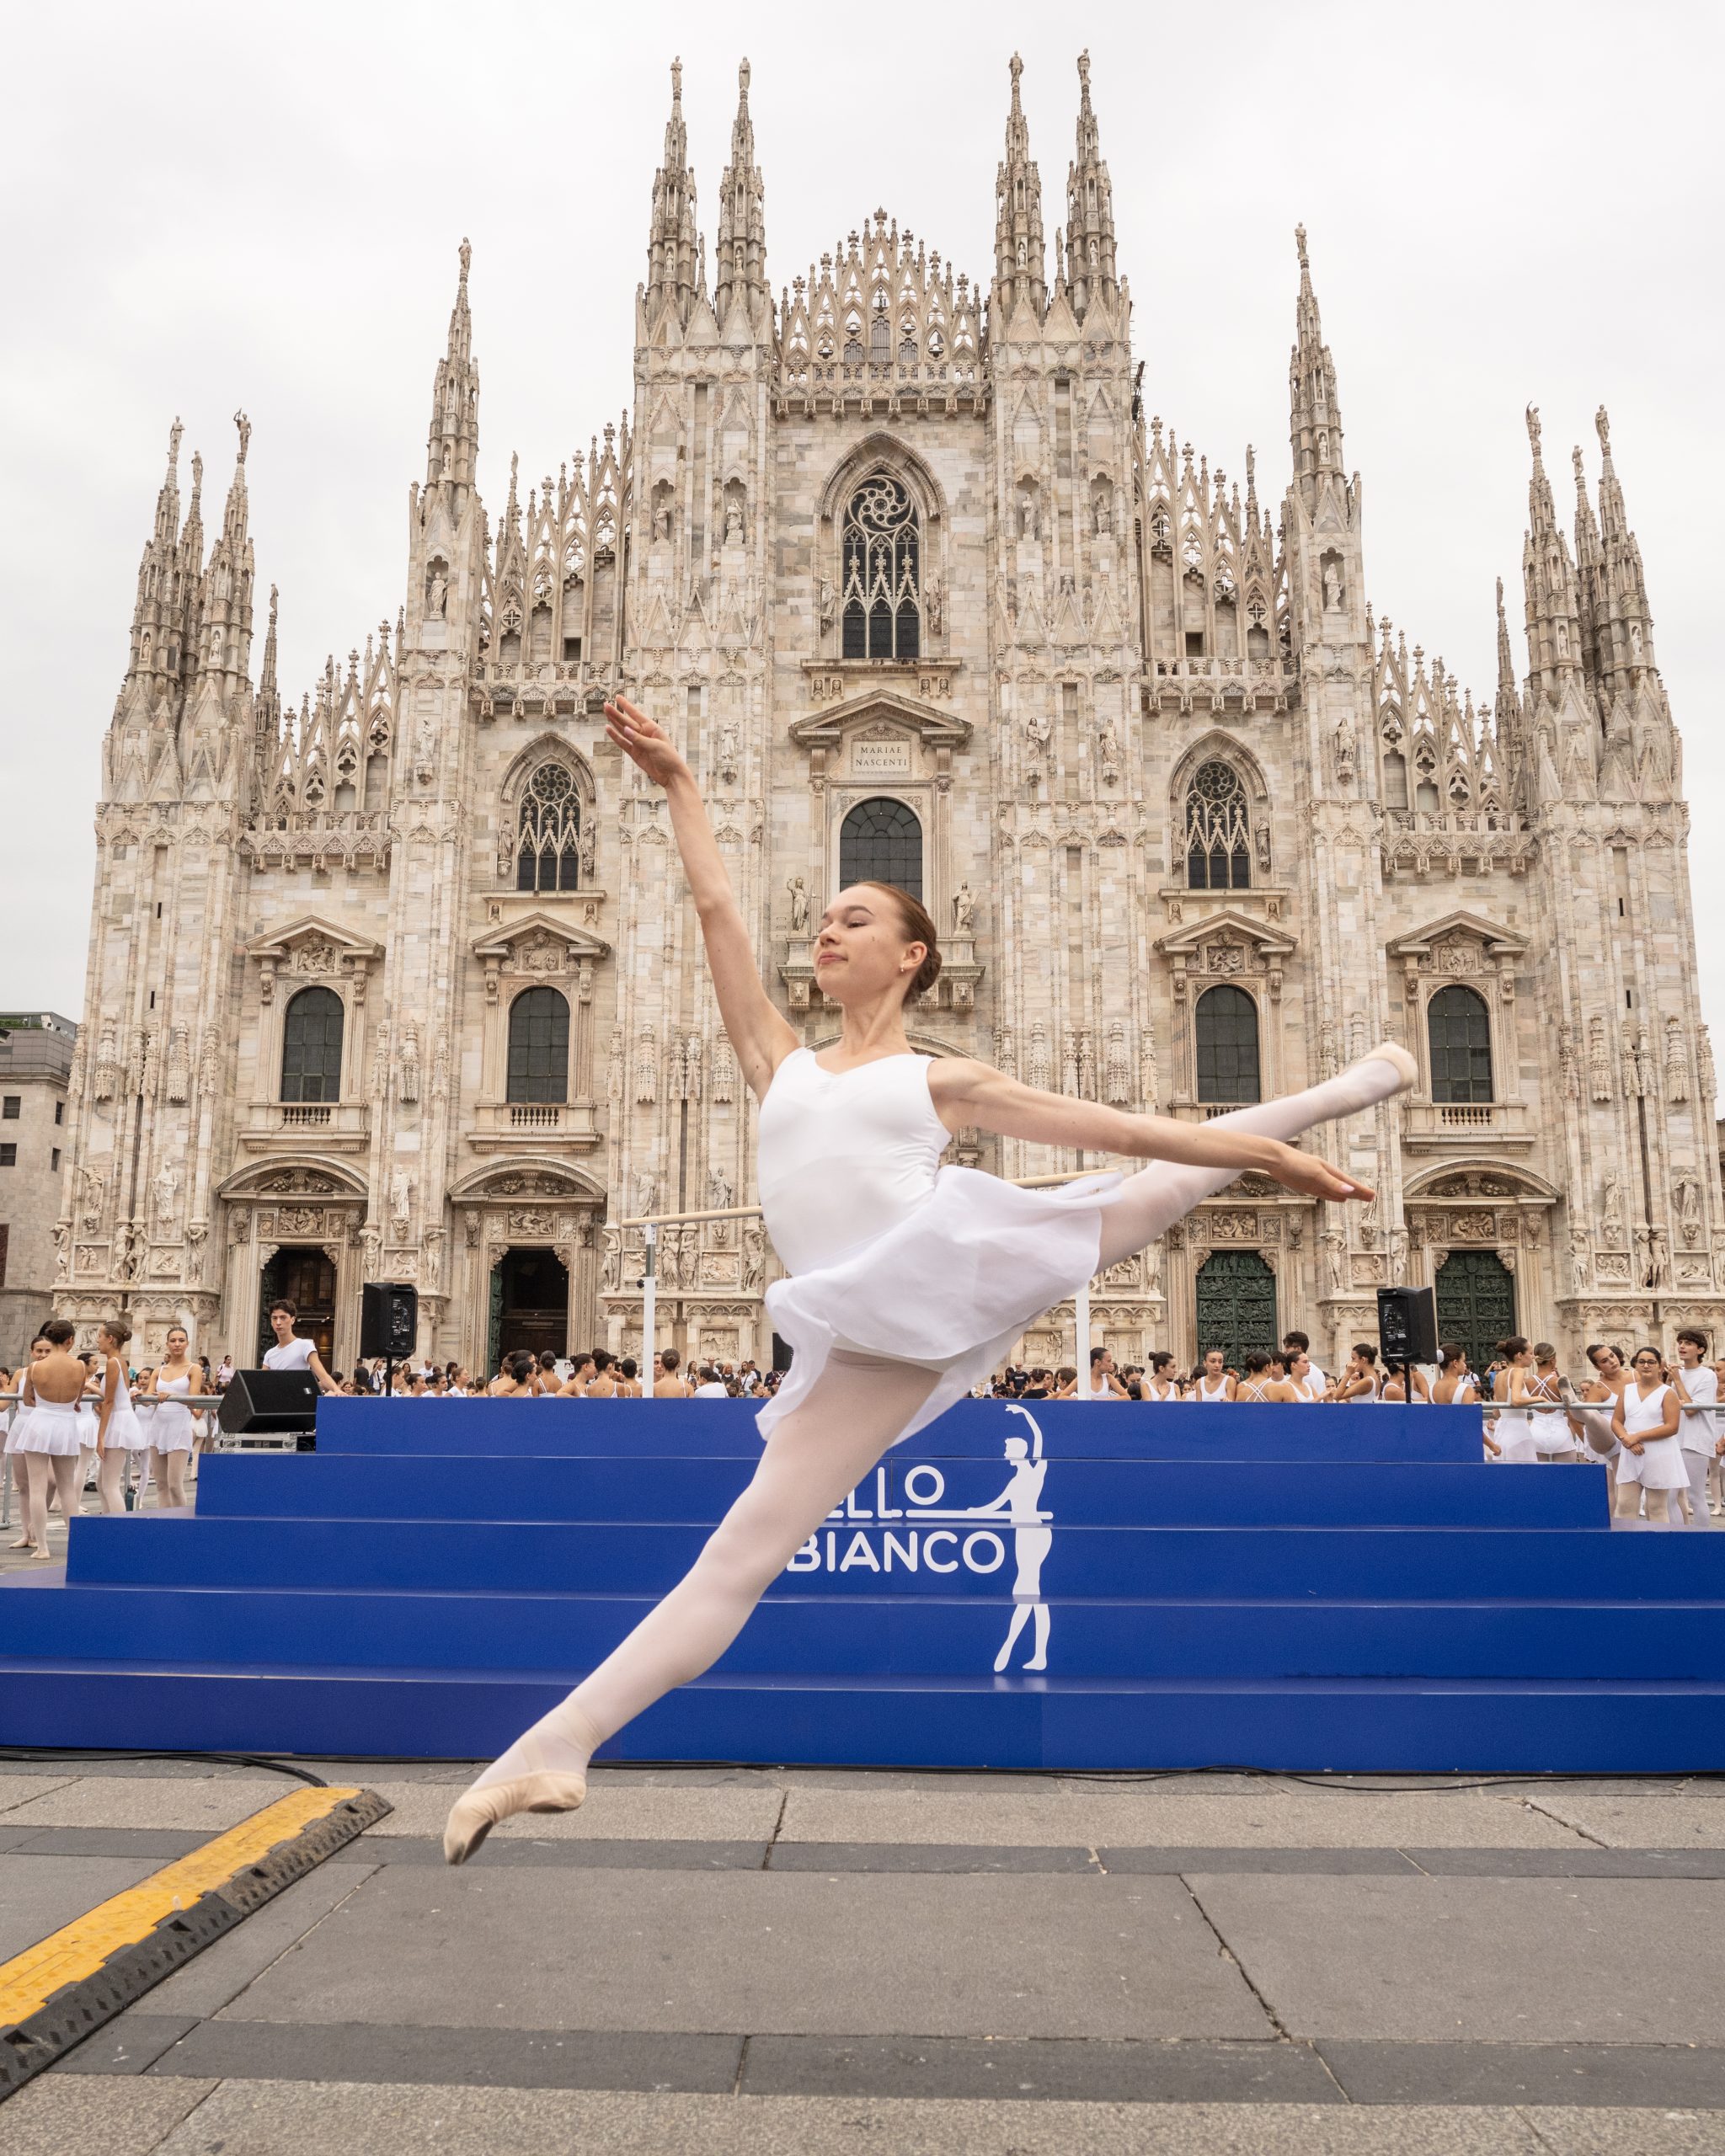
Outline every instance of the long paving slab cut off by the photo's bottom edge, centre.
[[[1550, 2156], [1514, 2111], [893, 2102], [282, 2081], [222, 2083], [162, 2143], [162, 2156], [213, 2156], [218, 2150], [222, 2156], [306, 2156], [306, 2150], [317, 2156], [574, 2156], [589, 2150], [604, 2150], [604, 2156]], [[50, 2152], [32, 2150], [30, 2156]], [[1688, 2152], [1673, 2147], [1656, 2156]]]

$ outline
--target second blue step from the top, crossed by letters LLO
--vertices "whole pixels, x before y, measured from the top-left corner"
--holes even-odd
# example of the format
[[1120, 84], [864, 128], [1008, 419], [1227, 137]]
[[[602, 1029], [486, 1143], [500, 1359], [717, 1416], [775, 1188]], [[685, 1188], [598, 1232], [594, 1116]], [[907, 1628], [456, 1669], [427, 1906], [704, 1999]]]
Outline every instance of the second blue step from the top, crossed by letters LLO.
[[[1102, 1412], [1102, 1410], [1095, 1410]], [[513, 1460], [505, 1473], [455, 1455], [216, 1453], [198, 1518], [231, 1520], [701, 1520], [718, 1522], [750, 1462]], [[1048, 1514], [1061, 1526], [1606, 1526], [1604, 1475], [1496, 1473], [1477, 1466], [1192, 1460], [1061, 1460]], [[906, 1485], [908, 1481], [908, 1485]], [[985, 1505], [998, 1462], [893, 1460], [869, 1477], [854, 1516], [957, 1526]], [[972, 1524], [994, 1524], [998, 1518]]]

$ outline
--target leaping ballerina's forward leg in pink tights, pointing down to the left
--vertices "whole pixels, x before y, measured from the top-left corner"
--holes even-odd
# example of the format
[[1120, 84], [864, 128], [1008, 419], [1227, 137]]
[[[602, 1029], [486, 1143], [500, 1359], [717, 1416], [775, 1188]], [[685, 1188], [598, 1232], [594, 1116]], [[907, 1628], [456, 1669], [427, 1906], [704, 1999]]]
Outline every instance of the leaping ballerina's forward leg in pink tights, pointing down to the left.
[[690, 1572], [455, 1805], [444, 1830], [448, 1861], [459, 1865], [515, 1811], [580, 1805], [593, 1751], [643, 1708], [712, 1669], [765, 1589], [862, 1481], [934, 1384], [936, 1373], [916, 1363], [834, 1350], [809, 1399], [774, 1425], [748, 1488]]

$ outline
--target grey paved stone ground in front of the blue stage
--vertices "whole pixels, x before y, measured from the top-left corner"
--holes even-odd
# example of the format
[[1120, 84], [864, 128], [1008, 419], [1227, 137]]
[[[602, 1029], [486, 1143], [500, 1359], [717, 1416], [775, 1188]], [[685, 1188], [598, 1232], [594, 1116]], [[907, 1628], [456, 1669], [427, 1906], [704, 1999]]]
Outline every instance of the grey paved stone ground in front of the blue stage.
[[[0, 2113], [6, 2156], [1725, 2156], [1725, 1783], [461, 1766]], [[0, 1761], [0, 1955], [280, 1777]]]

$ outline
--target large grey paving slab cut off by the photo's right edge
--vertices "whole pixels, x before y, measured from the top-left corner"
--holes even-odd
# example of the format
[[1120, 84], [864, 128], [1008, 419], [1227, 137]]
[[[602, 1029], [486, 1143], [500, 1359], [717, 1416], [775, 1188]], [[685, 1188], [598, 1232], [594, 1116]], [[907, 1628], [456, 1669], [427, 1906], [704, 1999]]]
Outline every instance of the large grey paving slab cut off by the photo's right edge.
[[1719, 2042], [1725, 1884], [1714, 1880], [1197, 1874], [1188, 1884], [1289, 2035]]

